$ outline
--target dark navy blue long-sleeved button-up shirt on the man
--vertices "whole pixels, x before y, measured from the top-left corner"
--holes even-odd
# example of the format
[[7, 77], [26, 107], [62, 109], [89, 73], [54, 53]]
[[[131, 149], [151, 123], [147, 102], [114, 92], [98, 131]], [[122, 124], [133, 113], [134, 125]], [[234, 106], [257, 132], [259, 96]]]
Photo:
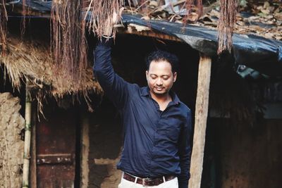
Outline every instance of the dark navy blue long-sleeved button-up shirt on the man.
[[117, 168], [139, 177], [178, 176], [180, 188], [190, 178], [191, 112], [176, 94], [164, 111], [148, 87], [125, 82], [111, 65], [111, 40], [94, 51], [94, 75], [123, 116], [124, 146]]

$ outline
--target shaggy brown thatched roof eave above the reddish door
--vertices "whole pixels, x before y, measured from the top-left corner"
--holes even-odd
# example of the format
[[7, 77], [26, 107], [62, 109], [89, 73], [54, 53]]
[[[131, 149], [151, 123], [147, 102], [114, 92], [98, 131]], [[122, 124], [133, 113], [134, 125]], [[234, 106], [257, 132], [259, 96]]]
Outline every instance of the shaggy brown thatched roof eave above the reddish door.
[[[1, 48], [1, 44], [0, 44]], [[51, 94], [56, 99], [65, 94], [83, 94], [92, 92], [102, 94], [99, 83], [94, 79], [90, 66], [81, 75], [80, 80], [72, 82], [70, 75], [64, 75], [53, 63], [49, 45], [42, 42], [22, 40], [19, 37], [8, 37], [5, 54], [0, 62], [6, 67], [13, 87], [19, 89], [21, 81], [32, 82], [32, 89], [39, 89]]]

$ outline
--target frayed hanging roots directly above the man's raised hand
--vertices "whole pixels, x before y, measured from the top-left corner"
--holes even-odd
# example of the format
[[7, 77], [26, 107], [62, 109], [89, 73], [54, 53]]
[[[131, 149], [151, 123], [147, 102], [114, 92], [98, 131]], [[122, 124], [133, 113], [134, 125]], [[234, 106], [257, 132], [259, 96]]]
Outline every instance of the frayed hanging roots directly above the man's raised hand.
[[[88, 27], [94, 33], [96, 32], [97, 37], [100, 39], [106, 29], [109, 29], [109, 23], [106, 22], [108, 18], [113, 18], [114, 12], [118, 13], [123, 0], [90, 0], [90, 4], [87, 8], [87, 13], [90, 13], [90, 20]], [[120, 18], [116, 20], [116, 23], [120, 21]], [[116, 27], [110, 28], [113, 31], [113, 35], [116, 35]]]

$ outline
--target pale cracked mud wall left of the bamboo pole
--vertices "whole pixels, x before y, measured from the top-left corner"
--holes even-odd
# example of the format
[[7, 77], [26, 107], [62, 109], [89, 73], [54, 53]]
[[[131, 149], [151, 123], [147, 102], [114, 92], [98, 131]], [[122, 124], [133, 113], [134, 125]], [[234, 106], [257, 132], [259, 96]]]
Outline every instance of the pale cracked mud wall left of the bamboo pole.
[[20, 99], [0, 93], [0, 187], [20, 187], [24, 142], [20, 131], [25, 120], [20, 115]]

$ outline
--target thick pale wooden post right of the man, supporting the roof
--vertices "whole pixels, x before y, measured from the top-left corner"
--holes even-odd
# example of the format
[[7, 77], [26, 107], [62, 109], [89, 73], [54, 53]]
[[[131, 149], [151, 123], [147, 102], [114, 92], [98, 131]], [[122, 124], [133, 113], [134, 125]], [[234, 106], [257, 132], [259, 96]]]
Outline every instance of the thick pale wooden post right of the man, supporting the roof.
[[212, 58], [205, 56], [204, 54], [200, 54], [189, 188], [201, 187], [204, 141], [206, 137], [207, 113], [209, 107], [209, 82], [211, 77], [211, 68]]

